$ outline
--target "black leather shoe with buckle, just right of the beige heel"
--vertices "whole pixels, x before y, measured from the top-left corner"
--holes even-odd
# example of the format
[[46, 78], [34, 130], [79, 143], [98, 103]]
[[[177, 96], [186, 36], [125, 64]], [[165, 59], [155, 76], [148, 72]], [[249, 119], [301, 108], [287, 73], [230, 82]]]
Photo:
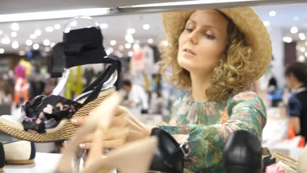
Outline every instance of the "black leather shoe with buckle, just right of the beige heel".
[[170, 134], [160, 128], [153, 128], [150, 136], [158, 138], [158, 148], [154, 153], [149, 170], [182, 173], [183, 159], [190, 152], [188, 142], [179, 145]]

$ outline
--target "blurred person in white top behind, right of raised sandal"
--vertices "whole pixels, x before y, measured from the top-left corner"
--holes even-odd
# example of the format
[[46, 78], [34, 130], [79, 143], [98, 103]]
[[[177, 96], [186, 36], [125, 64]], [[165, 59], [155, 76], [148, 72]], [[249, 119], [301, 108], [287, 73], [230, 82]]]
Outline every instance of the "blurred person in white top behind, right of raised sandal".
[[148, 112], [148, 96], [142, 86], [132, 84], [129, 80], [122, 81], [124, 94], [123, 105], [130, 108], [137, 108], [141, 113]]

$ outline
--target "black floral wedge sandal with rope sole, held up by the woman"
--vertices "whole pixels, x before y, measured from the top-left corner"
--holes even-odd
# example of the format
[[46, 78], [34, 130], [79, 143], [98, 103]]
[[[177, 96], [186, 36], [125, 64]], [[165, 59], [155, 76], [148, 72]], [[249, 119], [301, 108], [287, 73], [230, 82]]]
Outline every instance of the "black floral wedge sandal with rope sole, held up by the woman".
[[[19, 118], [0, 116], [0, 131], [21, 140], [53, 142], [70, 140], [79, 126], [71, 118], [87, 116], [103, 100], [119, 89], [121, 63], [105, 57], [103, 36], [97, 27], [64, 33], [65, 71], [52, 95], [37, 96], [22, 107]], [[58, 96], [69, 74], [69, 68], [85, 64], [110, 64], [95, 81], [74, 100]]]

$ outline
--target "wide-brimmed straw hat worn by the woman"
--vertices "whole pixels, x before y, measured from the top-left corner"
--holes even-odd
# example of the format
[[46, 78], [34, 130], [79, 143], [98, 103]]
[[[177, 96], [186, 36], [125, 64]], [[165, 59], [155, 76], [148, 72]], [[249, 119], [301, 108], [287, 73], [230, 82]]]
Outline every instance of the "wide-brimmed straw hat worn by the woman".
[[[253, 49], [255, 73], [253, 80], [266, 73], [272, 58], [272, 45], [269, 33], [259, 16], [250, 7], [218, 9], [228, 16], [245, 35]], [[194, 11], [167, 12], [162, 14], [162, 23], [167, 39], [178, 37], [182, 32], [182, 24]]]

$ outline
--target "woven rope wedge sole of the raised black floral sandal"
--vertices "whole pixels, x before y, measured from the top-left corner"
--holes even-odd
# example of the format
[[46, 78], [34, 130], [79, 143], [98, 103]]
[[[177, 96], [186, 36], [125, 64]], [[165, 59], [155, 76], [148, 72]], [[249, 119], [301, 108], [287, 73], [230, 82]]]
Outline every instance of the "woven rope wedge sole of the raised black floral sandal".
[[[95, 100], [84, 105], [71, 118], [87, 116], [90, 111], [99, 106], [102, 101], [106, 100], [115, 92], [115, 91], [114, 92], [110, 91], [111, 89], [103, 91], [106, 93], [104, 96], [98, 97]], [[70, 119], [67, 119], [64, 125], [62, 125], [57, 131], [53, 133], [38, 134], [33, 132], [27, 132], [22, 129], [17, 129], [6, 123], [0, 123], [0, 130], [3, 131], [4, 133], [21, 140], [31, 141], [36, 143], [70, 140], [77, 133], [79, 127], [80, 127], [79, 125], [74, 125], [71, 123]]]

